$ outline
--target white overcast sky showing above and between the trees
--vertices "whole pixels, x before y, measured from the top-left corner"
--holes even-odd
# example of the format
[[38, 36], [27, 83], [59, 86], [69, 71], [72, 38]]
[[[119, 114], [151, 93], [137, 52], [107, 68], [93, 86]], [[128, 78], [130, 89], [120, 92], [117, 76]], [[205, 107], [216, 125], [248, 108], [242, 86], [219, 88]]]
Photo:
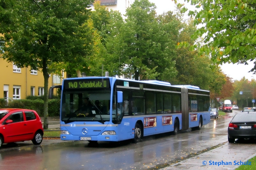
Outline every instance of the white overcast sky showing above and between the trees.
[[[167, 11], [174, 11], [176, 9], [175, 4], [172, 0], [149, 0], [151, 3], [154, 3], [157, 7], [156, 12], [161, 14]], [[177, 0], [179, 3], [185, 3], [184, 0]], [[185, 3], [187, 8], [195, 9], [190, 7], [190, 4]], [[250, 62], [249, 65], [244, 64], [223, 64], [221, 69], [224, 74], [227, 74], [233, 80], [241, 80], [244, 76], [246, 79], [251, 80], [252, 78], [256, 79], [256, 75], [248, 73], [253, 67], [253, 62]], [[253, 77], [251, 77], [253, 76]]]

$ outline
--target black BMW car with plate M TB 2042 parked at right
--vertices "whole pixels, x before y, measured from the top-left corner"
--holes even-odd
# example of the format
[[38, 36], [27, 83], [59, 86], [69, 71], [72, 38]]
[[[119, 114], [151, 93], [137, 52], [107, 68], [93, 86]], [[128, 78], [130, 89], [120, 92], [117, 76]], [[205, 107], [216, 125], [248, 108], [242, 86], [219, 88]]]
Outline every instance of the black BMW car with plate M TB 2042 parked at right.
[[228, 125], [228, 142], [235, 139], [256, 138], [256, 112], [239, 112]]

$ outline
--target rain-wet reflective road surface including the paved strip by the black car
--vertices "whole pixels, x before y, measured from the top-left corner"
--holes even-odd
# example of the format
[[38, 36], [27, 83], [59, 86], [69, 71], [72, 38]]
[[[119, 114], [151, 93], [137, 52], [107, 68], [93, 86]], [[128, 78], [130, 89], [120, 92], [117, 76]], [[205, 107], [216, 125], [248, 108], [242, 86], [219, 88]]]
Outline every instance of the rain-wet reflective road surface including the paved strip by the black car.
[[[233, 113], [195, 131], [174, 136], [170, 133], [143, 138], [140, 143], [44, 140], [40, 146], [31, 141], [5, 145], [0, 150], [0, 168], [26, 169], [235, 169], [234, 161], [245, 161], [256, 153], [256, 142], [228, 143], [228, 123]], [[205, 161], [205, 162], [204, 162]], [[231, 162], [231, 165], [210, 165]], [[206, 165], [203, 165], [206, 164]], [[223, 163], [222, 163], [223, 164]]]

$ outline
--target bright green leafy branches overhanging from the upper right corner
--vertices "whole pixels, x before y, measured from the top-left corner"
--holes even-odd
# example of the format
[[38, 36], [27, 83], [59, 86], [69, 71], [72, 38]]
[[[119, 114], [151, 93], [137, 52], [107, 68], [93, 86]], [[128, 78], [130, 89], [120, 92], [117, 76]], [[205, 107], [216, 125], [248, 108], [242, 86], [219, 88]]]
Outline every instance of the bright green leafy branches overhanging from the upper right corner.
[[[175, 2], [177, 2], [175, 0]], [[202, 25], [193, 38], [204, 36], [200, 52], [210, 54], [214, 63], [244, 63], [256, 56], [256, 1], [255, 0], [187, 0], [197, 11], [195, 25]], [[178, 4], [182, 11], [187, 9]], [[202, 9], [202, 10], [201, 10]], [[180, 43], [184, 45], [185, 43]], [[192, 47], [197, 47], [193, 44]], [[255, 63], [256, 64], [256, 63]], [[256, 66], [251, 71], [255, 71]]]

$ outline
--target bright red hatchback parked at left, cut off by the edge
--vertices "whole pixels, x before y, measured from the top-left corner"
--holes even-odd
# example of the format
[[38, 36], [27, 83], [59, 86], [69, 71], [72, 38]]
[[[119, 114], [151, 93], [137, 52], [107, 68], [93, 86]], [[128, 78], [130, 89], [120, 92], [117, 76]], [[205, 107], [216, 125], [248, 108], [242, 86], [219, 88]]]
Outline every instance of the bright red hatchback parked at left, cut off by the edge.
[[42, 143], [44, 129], [42, 121], [34, 110], [0, 109], [0, 148], [3, 143], [32, 140]]

